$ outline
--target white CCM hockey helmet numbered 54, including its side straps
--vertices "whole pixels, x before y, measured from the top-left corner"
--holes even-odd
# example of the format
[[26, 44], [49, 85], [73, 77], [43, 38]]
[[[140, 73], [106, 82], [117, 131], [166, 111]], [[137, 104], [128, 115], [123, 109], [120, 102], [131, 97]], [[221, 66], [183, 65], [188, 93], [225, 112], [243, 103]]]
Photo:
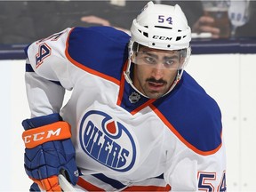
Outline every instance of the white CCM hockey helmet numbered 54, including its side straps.
[[[185, 51], [185, 61], [182, 68], [178, 70], [175, 81], [168, 92], [180, 81], [184, 66], [188, 63], [190, 56], [191, 29], [188, 20], [180, 6], [166, 4], [154, 4], [148, 2], [141, 10], [136, 19], [132, 21], [131, 40], [129, 44], [129, 62], [124, 72], [126, 81], [132, 85], [137, 92], [138, 89], [132, 84], [130, 77], [131, 57], [133, 52], [138, 51], [139, 45], [149, 48], [173, 51]], [[139, 44], [139, 45], [138, 45]], [[166, 92], [165, 94], [167, 94]], [[143, 95], [140, 92], [141, 95]], [[164, 94], [164, 95], [165, 95]], [[144, 95], [147, 97], [147, 95]]]

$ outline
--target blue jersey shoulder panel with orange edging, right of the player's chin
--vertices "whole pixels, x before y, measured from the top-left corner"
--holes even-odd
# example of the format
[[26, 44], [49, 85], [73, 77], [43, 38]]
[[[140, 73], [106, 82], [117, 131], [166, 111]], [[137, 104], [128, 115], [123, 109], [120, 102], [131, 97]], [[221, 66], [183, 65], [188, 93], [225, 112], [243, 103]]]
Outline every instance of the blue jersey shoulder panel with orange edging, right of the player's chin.
[[186, 146], [198, 154], [209, 155], [221, 147], [221, 113], [196, 81], [184, 72], [172, 94], [154, 104], [164, 122]]

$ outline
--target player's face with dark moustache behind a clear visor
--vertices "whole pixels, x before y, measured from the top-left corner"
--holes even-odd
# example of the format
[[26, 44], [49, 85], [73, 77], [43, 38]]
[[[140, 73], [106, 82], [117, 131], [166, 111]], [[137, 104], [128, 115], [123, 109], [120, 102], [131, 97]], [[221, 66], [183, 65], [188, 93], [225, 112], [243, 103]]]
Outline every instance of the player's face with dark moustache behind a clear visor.
[[181, 65], [178, 51], [159, 51], [141, 47], [132, 57], [133, 84], [150, 99], [158, 99], [168, 92]]

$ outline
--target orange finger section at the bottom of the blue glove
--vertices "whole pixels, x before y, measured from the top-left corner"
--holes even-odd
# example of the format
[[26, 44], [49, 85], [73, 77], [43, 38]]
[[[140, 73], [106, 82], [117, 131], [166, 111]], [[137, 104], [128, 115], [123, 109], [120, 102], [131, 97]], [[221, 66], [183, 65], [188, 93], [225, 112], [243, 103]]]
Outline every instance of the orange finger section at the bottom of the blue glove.
[[44, 180], [32, 180], [45, 191], [61, 191], [59, 178], [57, 175], [53, 175], [50, 178], [45, 178]]

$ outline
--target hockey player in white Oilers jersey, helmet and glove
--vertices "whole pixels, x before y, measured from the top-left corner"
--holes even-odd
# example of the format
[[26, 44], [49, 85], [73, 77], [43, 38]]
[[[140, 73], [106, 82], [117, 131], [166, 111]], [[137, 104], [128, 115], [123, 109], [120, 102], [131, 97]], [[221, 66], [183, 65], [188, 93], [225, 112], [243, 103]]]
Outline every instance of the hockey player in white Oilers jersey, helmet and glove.
[[67, 28], [26, 49], [31, 190], [60, 191], [60, 173], [76, 190], [226, 190], [220, 108], [184, 71], [180, 6], [148, 2], [131, 34]]

